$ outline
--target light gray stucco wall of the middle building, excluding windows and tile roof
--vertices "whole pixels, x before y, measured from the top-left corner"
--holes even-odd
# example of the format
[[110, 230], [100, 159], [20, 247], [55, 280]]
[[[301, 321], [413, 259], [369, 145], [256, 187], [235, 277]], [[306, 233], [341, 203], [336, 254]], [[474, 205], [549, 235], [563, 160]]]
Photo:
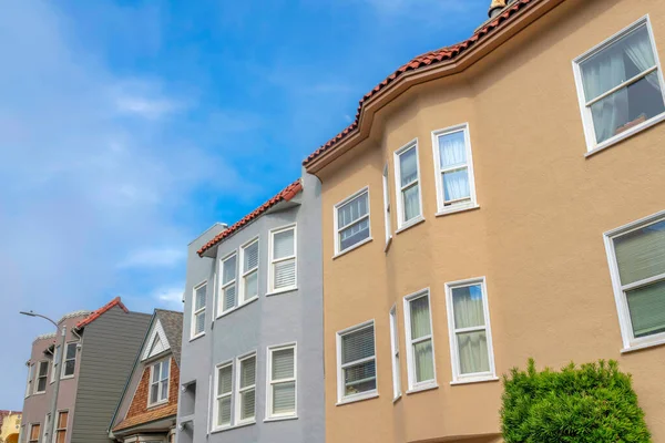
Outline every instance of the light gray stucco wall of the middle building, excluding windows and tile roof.
[[[181, 383], [196, 382], [194, 429], [178, 432], [177, 442], [188, 443], [319, 443], [325, 440], [323, 353], [323, 265], [320, 184], [304, 177], [296, 205], [260, 216], [219, 245], [217, 258], [196, 255], [212, 236], [190, 246], [183, 328]], [[270, 229], [297, 224], [298, 289], [267, 296]], [[214, 284], [219, 259], [259, 238], [258, 300], [214, 319], [218, 285]], [[238, 256], [239, 258], [239, 256]], [[239, 267], [239, 260], [238, 260]], [[208, 280], [205, 336], [191, 340], [194, 287]], [[266, 418], [267, 348], [297, 343], [297, 420], [264, 422]], [[206, 439], [211, 416], [211, 384], [215, 365], [256, 351], [256, 424], [213, 432]], [[181, 393], [182, 395], [182, 393]], [[235, 400], [235, 399], [234, 399]], [[182, 414], [178, 420], [183, 421]]]

